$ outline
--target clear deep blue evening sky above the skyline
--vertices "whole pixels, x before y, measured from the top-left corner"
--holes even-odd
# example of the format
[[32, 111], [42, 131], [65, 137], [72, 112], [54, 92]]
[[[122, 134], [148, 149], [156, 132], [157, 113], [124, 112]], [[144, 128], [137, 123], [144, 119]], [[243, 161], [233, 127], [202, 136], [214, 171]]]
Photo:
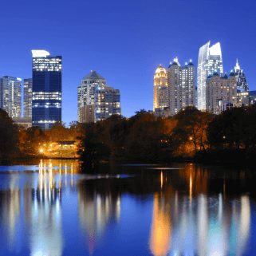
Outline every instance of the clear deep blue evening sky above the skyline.
[[256, 89], [254, 0], [2, 0], [0, 76], [31, 77], [31, 49], [63, 57], [63, 120], [77, 120], [77, 85], [91, 69], [121, 92], [122, 114], [152, 109], [156, 67], [175, 56], [197, 64], [220, 41], [223, 65], [238, 57]]

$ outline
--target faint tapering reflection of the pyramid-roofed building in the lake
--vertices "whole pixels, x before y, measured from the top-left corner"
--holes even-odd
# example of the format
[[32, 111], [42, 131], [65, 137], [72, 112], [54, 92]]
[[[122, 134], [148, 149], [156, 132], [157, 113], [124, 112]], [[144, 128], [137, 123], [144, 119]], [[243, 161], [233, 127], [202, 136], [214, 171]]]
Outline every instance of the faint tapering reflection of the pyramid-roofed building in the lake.
[[[89, 180], [79, 184], [78, 205], [81, 228], [85, 232], [89, 254], [92, 255], [97, 243], [103, 237], [108, 225], [120, 219], [120, 194], [111, 187], [104, 187], [108, 180], [101, 183]], [[101, 186], [102, 185], [102, 186]]]

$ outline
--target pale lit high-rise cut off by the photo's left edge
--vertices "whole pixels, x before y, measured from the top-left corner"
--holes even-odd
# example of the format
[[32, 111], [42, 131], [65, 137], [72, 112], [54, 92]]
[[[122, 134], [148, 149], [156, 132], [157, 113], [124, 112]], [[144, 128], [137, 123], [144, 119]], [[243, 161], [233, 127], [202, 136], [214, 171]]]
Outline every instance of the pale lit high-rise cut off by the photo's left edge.
[[0, 77], [0, 108], [12, 118], [22, 116], [22, 79]]

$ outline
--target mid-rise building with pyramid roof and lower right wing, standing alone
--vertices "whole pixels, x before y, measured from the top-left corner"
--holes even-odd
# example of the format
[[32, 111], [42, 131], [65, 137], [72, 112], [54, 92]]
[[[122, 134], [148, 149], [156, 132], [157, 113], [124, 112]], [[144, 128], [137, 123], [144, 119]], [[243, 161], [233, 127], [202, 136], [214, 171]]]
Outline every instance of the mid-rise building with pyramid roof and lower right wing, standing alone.
[[85, 76], [77, 88], [78, 121], [92, 123], [120, 115], [120, 92], [106, 85], [96, 71]]

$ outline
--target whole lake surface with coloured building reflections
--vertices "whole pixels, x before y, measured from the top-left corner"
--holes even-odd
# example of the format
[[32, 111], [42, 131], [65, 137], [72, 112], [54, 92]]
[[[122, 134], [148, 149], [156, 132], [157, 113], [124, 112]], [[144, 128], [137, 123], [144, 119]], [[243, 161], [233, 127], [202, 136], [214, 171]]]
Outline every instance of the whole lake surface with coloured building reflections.
[[0, 167], [1, 255], [256, 255], [256, 173], [71, 160]]

